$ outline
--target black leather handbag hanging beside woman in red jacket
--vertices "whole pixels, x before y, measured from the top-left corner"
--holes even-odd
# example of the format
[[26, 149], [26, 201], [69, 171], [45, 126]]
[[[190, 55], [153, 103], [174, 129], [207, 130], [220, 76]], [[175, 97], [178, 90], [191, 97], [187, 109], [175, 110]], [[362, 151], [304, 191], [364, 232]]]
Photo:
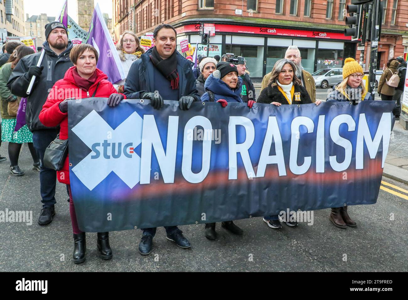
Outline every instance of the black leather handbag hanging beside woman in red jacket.
[[57, 135], [44, 153], [44, 167], [59, 171], [64, 166], [65, 159], [68, 155], [68, 139], [61, 140], [60, 134]]

